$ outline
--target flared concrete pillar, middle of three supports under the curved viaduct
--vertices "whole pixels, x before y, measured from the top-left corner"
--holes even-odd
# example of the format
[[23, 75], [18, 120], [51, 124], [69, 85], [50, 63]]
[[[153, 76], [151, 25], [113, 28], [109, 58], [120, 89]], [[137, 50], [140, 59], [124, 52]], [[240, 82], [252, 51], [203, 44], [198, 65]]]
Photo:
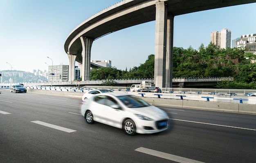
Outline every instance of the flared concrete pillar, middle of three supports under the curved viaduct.
[[82, 81], [90, 80], [90, 66], [91, 66], [91, 48], [93, 39], [87, 37], [80, 37], [82, 42]]

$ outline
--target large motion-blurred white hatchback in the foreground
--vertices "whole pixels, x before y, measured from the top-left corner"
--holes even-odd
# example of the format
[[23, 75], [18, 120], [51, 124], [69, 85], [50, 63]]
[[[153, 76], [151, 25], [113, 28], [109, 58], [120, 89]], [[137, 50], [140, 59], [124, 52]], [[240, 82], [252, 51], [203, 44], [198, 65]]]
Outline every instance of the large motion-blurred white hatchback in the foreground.
[[94, 121], [124, 129], [128, 135], [151, 134], [168, 129], [164, 110], [128, 93], [101, 93], [83, 101], [81, 114]]

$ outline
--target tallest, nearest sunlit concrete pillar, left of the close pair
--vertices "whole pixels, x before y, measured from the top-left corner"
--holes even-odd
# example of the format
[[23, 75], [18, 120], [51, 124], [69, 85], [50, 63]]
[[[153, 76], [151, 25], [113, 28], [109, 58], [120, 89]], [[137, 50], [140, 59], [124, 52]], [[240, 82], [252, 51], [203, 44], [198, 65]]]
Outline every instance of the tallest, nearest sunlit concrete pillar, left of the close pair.
[[164, 1], [155, 4], [155, 72], [154, 82], [157, 87], [165, 87], [166, 79], [166, 24], [167, 9]]

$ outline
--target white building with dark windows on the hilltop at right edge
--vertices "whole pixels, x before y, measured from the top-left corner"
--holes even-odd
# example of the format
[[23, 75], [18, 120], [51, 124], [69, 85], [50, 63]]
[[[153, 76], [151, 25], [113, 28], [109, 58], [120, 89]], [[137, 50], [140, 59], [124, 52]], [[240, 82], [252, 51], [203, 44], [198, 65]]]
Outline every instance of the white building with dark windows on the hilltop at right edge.
[[256, 54], [256, 34], [242, 35], [240, 39], [236, 40], [236, 47], [247, 48], [246, 52], [252, 52]]

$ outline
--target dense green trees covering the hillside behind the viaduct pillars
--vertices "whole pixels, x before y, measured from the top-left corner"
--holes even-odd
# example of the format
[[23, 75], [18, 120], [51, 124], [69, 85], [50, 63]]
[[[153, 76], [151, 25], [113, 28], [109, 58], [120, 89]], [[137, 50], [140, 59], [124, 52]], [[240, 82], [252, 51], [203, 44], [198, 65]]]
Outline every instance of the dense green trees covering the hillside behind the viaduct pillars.
[[[130, 70], [115, 67], [91, 70], [91, 79], [154, 78], [155, 55], [144, 64]], [[214, 44], [198, 50], [173, 47], [173, 77], [234, 77], [234, 81], [222, 81], [217, 88], [256, 89], [255, 55], [243, 48], [221, 49]]]

